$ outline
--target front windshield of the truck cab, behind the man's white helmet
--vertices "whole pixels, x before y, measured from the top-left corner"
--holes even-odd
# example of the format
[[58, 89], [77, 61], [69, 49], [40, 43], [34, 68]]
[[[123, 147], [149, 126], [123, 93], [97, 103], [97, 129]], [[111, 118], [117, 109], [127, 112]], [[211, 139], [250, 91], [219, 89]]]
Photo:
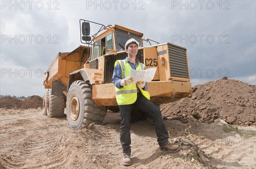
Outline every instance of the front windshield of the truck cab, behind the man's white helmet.
[[125, 51], [125, 43], [131, 38], [136, 39], [139, 42], [139, 48], [143, 47], [142, 40], [137, 37], [132, 37], [126, 34], [121, 34], [119, 32], [115, 32], [115, 38], [116, 38], [116, 51]]

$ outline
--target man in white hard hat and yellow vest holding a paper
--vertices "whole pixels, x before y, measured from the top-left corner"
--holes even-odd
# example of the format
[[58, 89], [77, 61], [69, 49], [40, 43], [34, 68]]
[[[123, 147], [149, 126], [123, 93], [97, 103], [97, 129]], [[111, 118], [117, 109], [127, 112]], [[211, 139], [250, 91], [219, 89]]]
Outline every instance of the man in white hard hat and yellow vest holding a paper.
[[112, 82], [116, 89], [116, 101], [119, 105], [121, 126], [120, 126], [120, 142], [123, 150], [122, 164], [131, 165], [131, 135], [130, 121], [131, 110], [136, 107], [153, 117], [153, 124], [157, 133], [157, 142], [161, 151], [177, 152], [180, 146], [171, 144], [168, 141], [169, 135], [163, 123], [163, 118], [159, 107], [149, 101], [149, 93], [147, 82], [133, 82], [133, 78], [129, 76], [131, 69], [145, 69], [145, 65], [136, 59], [138, 53], [139, 42], [135, 39], [129, 39], [125, 44], [125, 52], [128, 54], [125, 60], [117, 60], [113, 72]]

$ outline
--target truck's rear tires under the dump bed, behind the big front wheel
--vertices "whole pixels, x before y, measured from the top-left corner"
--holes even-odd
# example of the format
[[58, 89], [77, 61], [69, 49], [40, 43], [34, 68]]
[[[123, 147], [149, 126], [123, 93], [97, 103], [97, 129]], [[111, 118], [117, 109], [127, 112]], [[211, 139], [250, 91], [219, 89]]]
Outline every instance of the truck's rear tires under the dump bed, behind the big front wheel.
[[47, 117], [64, 117], [65, 100], [63, 96], [52, 95], [52, 90], [49, 90], [46, 106]]

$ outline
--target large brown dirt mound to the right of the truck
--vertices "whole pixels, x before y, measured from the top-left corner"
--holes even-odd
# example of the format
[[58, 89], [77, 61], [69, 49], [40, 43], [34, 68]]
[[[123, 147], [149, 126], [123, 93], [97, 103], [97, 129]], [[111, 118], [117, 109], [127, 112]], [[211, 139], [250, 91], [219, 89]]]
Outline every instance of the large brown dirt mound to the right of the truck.
[[186, 123], [192, 115], [202, 122], [223, 119], [228, 124], [256, 125], [256, 85], [220, 79], [192, 87], [193, 96], [162, 104], [164, 118]]

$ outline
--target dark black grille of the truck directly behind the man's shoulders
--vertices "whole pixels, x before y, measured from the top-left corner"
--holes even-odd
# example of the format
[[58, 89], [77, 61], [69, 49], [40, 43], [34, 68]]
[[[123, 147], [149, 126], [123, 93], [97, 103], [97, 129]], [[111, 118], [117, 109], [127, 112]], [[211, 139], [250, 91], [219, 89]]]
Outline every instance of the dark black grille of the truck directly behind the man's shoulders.
[[[104, 63], [104, 83], [112, 83], [112, 76], [114, 71], [114, 64], [116, 60], [123, 60], [127, 57], [126, 52], [122, 52], [119, 54], [113, 54], [105, 56], [105, 63]], [[141, 63], [144, 63], [143, 59], [143, 49], [138, 50], [138, 54], [136, 58], [140, 60]]]

